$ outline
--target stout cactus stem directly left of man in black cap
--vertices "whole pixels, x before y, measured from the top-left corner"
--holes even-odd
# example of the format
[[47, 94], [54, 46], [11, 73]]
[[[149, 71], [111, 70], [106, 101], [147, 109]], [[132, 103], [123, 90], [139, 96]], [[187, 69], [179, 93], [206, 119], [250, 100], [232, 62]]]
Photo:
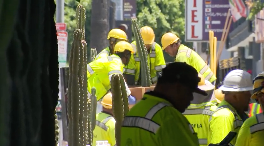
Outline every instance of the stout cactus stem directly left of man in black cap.
[[127, 114], [128, 98], [124, 77], [121, 74], [114, 74], [111, 77], [112, 109], [115, 118], [115, 139], [116, 145], [121, 145], [121, 126], [124, 116]]

